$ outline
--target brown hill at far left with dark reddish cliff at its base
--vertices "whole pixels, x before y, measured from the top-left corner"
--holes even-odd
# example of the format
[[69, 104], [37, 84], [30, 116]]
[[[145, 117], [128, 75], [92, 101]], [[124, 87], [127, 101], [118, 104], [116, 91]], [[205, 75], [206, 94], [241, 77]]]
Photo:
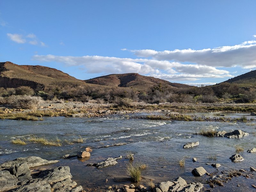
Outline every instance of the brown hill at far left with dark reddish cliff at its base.
[[42, 90], [51, 85], [65, 87], [85, 84], [84, 81], [54, 68], [16, 65], [9, 61], [0, 63], [0, 87], [30, 86], [33, 89]]

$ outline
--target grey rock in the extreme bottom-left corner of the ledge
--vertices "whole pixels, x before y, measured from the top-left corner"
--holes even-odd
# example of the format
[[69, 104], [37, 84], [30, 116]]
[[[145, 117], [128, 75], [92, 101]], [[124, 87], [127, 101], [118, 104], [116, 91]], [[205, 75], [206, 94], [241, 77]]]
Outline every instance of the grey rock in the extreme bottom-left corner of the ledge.
[[0, 171], [0, 191], [8, 191], [16, 188], [18, 179], [15, 178], [9, 171]]

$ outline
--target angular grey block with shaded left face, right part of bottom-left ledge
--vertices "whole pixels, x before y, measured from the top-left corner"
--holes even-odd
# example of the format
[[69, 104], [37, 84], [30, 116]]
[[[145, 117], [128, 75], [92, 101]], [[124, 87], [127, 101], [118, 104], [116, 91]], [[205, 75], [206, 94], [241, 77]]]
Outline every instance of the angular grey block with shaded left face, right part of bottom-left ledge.
[[36, 178], [40, 178], [47, 183], [58, 182], [65, 179], [71, 179], [70, 169], [68, 166], [59, 166], [52, 169], [35, 174]]

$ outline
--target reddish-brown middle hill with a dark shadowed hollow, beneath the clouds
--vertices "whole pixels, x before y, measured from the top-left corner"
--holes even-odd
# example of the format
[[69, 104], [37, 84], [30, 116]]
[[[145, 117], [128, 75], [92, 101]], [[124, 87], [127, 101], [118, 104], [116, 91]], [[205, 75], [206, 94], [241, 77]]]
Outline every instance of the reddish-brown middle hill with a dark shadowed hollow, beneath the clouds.
[[180, 88], [191, 87], [186, 84], [171, 83], [162, 79], [150, 76], [142, 76], [138, 73], [125, 73], [125, 74], [111, 74], [107, 76], [100, 76], [93, 79], [85, 80], [86, 83], [98, 84], [114, 87], [132, 87], [137, 90], [146, 91], [153, 86], [161, 84], [165, 87]]

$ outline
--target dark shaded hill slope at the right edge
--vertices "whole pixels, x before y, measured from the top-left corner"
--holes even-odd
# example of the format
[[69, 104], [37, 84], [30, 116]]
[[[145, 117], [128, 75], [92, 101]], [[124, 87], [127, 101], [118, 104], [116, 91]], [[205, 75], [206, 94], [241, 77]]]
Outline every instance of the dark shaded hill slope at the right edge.
[[250, 71], [243, 75], [236, 76], [234, 78], [228, 79], [228, 83], [238, 84], [239, 87], [244, 88], [254, 88], [256, 87], [256, 70]]

